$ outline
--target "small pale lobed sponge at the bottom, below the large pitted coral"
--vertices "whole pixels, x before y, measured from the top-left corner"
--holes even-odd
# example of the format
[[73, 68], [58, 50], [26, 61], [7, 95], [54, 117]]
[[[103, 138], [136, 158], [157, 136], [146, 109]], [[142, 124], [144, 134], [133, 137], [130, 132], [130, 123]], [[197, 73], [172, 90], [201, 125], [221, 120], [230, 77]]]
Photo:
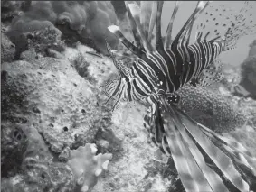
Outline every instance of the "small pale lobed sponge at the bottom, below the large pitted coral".
[[96, 145], [90, 143], [77, 150], [71, 150], [67, 164], [71, 167], [76, 180], [74, 191], [90, 191], [96, 185], [102, 171], [108, 169], [112, 154], [96, 155], [96, 152]]

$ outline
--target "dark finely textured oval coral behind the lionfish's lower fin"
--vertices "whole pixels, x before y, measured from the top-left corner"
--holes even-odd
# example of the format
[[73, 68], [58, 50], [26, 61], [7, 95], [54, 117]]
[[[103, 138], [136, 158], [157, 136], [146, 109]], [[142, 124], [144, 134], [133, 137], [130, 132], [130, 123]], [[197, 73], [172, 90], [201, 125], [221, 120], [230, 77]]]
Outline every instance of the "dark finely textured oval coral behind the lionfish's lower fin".
[[246, 117], [222, 95], [202, 87], [185, 86], [177, 92], [181, 96], [180, 108], [194, 120], [215, 131], [226, 132], [241, 126]]

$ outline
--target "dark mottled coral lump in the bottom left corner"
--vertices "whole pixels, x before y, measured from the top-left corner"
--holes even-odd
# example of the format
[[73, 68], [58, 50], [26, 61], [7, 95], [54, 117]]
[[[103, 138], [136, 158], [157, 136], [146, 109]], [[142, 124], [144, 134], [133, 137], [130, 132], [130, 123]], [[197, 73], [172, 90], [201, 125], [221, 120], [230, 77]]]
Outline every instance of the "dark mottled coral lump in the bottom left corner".
[[72, 191], [74, 181], [69, 167], [38, 160], [31, 160], [26, 167], [24, 174], [2, 179], [1, 191]]

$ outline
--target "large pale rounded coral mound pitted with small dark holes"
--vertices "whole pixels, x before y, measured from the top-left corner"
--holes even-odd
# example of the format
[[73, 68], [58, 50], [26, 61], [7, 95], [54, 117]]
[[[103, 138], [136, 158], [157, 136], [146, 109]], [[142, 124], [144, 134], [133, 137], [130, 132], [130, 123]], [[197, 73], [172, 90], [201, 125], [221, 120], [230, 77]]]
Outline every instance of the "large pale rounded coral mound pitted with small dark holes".
[[2, 65], [2, 119], [29, 122], [52, 151], [90, 142], [104, 126], [98, 92], [67, 60], [42, 58]]

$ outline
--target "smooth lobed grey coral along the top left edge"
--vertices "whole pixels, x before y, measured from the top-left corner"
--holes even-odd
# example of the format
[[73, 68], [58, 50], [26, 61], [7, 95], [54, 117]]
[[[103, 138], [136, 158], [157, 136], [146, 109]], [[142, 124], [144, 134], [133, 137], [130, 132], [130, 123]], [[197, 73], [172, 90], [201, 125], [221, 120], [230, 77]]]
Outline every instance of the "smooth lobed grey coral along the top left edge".
[[[13, 19], [9, 36], [15, 39], [15, 36], [23, 32], [65, 25], [69, 31], [77, 32], [81, 38], [90, 37], [100, 51], [106, 52], [105, 38], [113, 47], [119, 43], [107, 29], [109, 25], [115, 23], [117, 23], [117, 17], [110, 2], [33, 2], [28, 11], [24, 11], [24, 14]], [[62, 29], [60, 28], [61, 31]]]

